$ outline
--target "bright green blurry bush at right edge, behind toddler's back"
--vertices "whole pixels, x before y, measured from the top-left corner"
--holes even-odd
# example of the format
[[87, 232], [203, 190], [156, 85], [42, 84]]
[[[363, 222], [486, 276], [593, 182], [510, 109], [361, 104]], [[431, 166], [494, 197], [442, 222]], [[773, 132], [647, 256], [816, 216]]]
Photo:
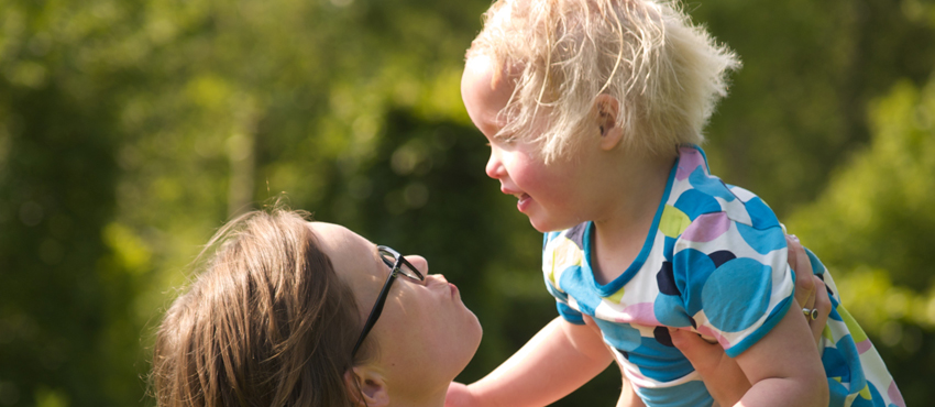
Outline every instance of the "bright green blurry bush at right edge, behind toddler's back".
[[870, 145], [789, 227], [834, 271], [908, 405], [924, 405], [931, 388], [914, 378], [935, 375], [935, 81], [901, 81], [871, 106]]

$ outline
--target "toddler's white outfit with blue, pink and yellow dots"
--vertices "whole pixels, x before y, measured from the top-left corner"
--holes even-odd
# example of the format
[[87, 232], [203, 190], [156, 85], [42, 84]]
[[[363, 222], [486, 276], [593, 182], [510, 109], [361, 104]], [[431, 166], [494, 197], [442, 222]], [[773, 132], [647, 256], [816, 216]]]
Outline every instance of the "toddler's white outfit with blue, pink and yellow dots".
[[[642, 250], [608, 285], [597, 284], [590, 268], [592, 226], [543, 238], [542, 272], [559, 312], [572, 323], [583, 323], [585, 315], [594, 319], [647, 406], [710, 407], [704, 384], [671, 346], [667, 327], [713, 337], [736, 356], [788, 314], [794, 280], [772, 210], [711, 176], [700, 148], [682, 147]], [[831, 294], [822, 356], [831, 405], [905, 407], [879, 354], [840, 305], [831, 274], [807, 254]]]

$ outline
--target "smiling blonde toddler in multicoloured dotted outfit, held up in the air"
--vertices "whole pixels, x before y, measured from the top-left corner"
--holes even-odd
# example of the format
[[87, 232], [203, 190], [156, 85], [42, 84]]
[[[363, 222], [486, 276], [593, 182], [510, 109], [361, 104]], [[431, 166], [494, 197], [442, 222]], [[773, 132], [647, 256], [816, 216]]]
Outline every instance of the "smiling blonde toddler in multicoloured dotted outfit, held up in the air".
[[[615, 360], [648, 406], [711, 406], [671, 329], [718, 343], [747, 406], [902, 406], [834, 282], [816, 348], [781, 223], [708, 172], [702, 128], [739, 66], [670, 2], [501, 0], [468, 51], [462, 97], [486, 173], [544, 233], [561, 315], [449, 403], [542, 405]], [[805, 309], [807, 312], [810, 309]], [[608, 352], [609, 349], [609, 352]], [[733, 400], [730, 402], [733, 403]]]

